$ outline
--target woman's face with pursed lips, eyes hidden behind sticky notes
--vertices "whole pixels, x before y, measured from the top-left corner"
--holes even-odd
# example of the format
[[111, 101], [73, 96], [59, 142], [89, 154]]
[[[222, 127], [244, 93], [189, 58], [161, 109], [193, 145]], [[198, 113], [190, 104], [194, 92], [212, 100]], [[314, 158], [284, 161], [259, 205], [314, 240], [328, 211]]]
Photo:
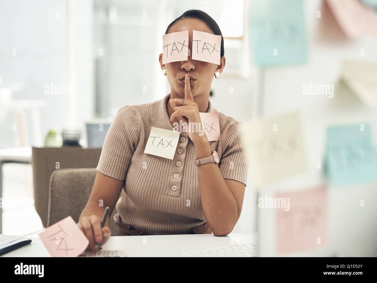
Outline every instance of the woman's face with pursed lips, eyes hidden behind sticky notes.
[[[202, 31], [213, 34], [204, 21], [188, 18], [179, 20], [169, 29], [169, 33], [179, 31], [189, 31], [189, 49], [192, 50], [192, 31]], [[225, 57], [220, 58], [220, 65], [213, 63], [193, 60], [190, 52], [187, 61], [176, 61], [162, 65], [162, 54], [159, 55], [161, 69], [166, 68], [167, 80], [170, 84], [171, 93], [179, 96], [185, 96], [184, 76], [190, 73], [190, 86], [193, 96], [203, 93], [210, 93], [211, 83], [214, 78], [215, 71], [220, 73], [225, 66]]]

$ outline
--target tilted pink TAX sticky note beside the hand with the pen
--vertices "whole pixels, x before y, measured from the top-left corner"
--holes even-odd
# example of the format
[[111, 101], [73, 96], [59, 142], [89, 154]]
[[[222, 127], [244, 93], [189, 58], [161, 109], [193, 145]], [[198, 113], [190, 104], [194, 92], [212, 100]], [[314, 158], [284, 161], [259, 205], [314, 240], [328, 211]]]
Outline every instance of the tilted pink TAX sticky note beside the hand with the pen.
[[85, 251], [89, 240], [71, 216], [38, 234], [52, 257], [77, 257]]

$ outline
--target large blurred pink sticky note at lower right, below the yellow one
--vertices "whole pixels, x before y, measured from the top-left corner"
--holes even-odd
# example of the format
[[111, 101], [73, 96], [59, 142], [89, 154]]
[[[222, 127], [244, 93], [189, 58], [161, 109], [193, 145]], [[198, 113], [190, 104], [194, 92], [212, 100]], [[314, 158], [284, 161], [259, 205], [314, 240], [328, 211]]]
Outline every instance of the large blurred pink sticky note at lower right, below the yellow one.
[[[289, 198], [289, 202], [288, 202]], [[328, 242], [326, 187], [279, 193], [276, 199], [277, 253], [307, 252]], [[289, 210], [287, 210], [287, 207]]]

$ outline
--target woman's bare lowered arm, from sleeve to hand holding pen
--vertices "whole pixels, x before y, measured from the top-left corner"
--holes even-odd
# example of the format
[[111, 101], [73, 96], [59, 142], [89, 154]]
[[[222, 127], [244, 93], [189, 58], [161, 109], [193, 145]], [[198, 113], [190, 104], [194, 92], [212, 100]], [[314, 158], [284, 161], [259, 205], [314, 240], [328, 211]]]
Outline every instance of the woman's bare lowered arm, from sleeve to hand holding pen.
[[[97, 172], [89, 200], [80, 215], [78, 226], [89, 240], [89, 246], [97, 251], [110, 237], [110, 216], [123, 188], [124, 180], [118, 180]], [[101, 228], [102, 216], [105, 208], [109, 207], [109, 214], [104, 228]]]

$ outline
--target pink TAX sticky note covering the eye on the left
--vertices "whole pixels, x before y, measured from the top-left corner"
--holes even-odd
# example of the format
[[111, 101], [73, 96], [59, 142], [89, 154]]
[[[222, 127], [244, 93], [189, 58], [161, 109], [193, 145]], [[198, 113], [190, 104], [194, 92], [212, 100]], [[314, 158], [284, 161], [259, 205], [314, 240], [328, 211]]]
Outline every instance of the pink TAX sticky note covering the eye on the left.
[[189, 31], [162, 35], [162, 64], [186, 61], [189, 48]]

